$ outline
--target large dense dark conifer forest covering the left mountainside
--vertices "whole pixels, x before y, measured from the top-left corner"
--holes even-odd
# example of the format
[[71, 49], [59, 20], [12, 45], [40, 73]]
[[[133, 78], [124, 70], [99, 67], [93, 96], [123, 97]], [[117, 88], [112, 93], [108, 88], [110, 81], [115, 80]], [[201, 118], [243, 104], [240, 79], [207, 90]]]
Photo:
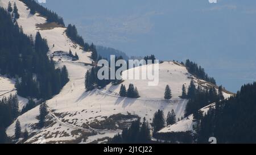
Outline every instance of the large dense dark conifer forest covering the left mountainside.
[[38, 32], [34, 43], [2, 8], [0, 20], [0, 74], [16, 77], [22, 97], [48, 99], [59, 93], [68, 82], [68, 72], [65, 66], [55, 69], [53, 60], [49, 61], [47, 40]]

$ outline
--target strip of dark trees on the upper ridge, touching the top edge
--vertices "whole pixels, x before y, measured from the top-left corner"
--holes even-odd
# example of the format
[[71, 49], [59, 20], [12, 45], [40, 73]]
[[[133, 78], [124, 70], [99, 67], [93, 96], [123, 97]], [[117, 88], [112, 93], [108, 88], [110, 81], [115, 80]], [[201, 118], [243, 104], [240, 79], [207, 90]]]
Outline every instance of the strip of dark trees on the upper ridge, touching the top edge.
[[28, 6], [31, 14], [35, 14], [35, 12], [39, 12], [39, 14], [41, 14], [42, 16], [46, 16], [47, 22], [49, 23], [55, 22], [62, 26], [65, 26], [63, 18], [57, 15], [56, 12], [46, 9], [39, 3], [35, 2], [34, 0], [23, 0], [22, 2]]

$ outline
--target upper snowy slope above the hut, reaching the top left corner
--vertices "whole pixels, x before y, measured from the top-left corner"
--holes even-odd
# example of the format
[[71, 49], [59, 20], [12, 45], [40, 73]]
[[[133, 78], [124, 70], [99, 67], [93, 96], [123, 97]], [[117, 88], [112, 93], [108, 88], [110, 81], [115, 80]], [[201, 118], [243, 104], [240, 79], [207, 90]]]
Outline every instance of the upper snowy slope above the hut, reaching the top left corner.
[[[32, 35], [35, 38], [36, 32], [39, 31], [42, 37], [47, 39], [48, 46], [50, 49], [48, 53], [49, 56], [53, 55], [53, 52], [55, 51], [69, 52], [69, 49], [71, 49], [73, 55], [75, 55], [75, 52], [77, 52], [77, 55], [79, 56], [79, 62], [92, 62], [92, 60], [89, 58], [91, 52], [83, 51], [80, 45], [73, 43], [72, 40], [67, 37], [65, 33], [65, 30], [67, 28], [54, 27], [42, 29], [38, 27], [38, 24], [46, 24], [46, 18], [40, 16], [40, 14], [38, 13], [36, 13], [35, 15], [31, 15], [30, 9], [28, 9], [28, 7], [21, 1], [11, 0], [10, 2], [12, 5], [14, 4], [14, 2], [16, 3], [20, 15], [20, 18], [17, 20], [17, 22], [19, 26], [22, 26], [23, 32], [27, 35]], [[8, 3], [9, 0], [1, 0], [0, 6], [7, 9]], [[59, 57], [57, 58], [57, 60], [58, 59]]]

